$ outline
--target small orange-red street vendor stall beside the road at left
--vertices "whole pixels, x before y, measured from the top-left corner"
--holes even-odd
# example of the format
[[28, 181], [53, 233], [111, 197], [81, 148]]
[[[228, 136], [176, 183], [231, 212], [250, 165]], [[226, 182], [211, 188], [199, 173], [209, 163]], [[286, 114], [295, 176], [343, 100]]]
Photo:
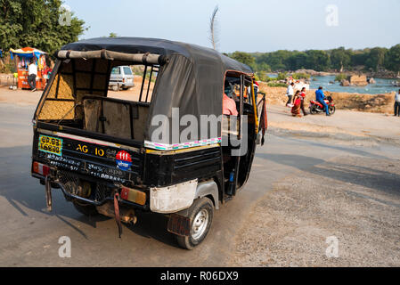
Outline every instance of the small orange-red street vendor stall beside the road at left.
[[37, 65], [37, 89], [45, 89], [46, 77], [48, 74], [48, 68], [45, 61], [45, 55], [47, 53], [39, 51], [35, 48], [24, 47], [18, 50], [10, 50], [11, 59], [15, 60], [15, 66], [18, 70], [18, 88], [30, 89], [28, 83], [28, 67], [32, 59], [35, 60]]

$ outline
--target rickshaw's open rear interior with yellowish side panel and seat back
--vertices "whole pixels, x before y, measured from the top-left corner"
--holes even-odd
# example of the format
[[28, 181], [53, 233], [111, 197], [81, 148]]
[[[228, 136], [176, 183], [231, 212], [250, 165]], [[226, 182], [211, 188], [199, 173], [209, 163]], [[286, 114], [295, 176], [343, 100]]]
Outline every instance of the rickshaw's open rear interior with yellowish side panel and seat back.
[[[110, 73], [114, 67], [136, 65], [143, 70], [140, 92], [127, 99], [109, 94]], [[103, 59], [68, 59], [60, 63], [38, 119], [58, 126], [134, 141], [144, 140], [144, 126], [159, 65], [135, 64]]]

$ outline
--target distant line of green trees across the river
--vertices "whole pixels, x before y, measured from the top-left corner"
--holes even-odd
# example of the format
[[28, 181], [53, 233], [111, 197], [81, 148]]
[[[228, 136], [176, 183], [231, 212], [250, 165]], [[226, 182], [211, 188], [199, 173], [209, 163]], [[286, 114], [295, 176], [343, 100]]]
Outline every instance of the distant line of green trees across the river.
[[316, 71], [400, 71], [400, 44], [391, 48], [374, 47], [363, 50], [339, 47], [327, 51], [308, 50], [276, 51], [273, 53], [228, 54], [237, 61], [249, 65], [255, 71], [284, 71], [314, 69]]

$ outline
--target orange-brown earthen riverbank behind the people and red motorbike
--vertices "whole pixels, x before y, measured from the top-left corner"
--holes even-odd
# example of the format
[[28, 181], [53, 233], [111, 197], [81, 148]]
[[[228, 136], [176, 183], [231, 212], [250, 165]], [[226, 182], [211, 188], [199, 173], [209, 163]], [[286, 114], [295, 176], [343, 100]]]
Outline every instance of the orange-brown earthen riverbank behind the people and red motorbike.
[[[266, 94], [267, 103], [270, 105], [284, 106], [288, 101], [286, 88], [269, 87], [266, 83], [260, 83], [260, 89]], [[331, 95], [337, 109], [355, 110], [371, 113], [392, 114], [395, 103], [395, 93], [388, 94], [352, 94], [325, 91], [325, 95]], [[315, 99], [315, 90], [306, 92], [306, 108], [310, 100]]]

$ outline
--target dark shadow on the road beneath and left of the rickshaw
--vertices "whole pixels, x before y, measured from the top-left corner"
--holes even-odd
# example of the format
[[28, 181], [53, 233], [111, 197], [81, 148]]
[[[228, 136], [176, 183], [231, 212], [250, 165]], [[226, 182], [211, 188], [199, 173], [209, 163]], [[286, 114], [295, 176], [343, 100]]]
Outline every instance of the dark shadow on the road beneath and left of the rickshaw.
[[[0, 148], [0, 196], [18, 210], [21, 216], [29, 216], [34, 210], [45, 216], [56, 216], [64, 224], [87, 239], [85, 230], [71, 224], [66, 218], [77, 220], [96, 228], [97, 223], [110, 220], [106, 216], [84, 216], [67, 202], [60, 190], [53, 190], [53, 212], [45, 209], [45, 186], [30, 176], [31, 146], [16, 148]], [[167, 232], [167, 218], [157, 214], [138, 214], [138, 222], [134, 226], [124, 226], [124, 229], [135, 232], [142, 237], [159, 240], [177, 248], [174, 235]], [[116, 225], [115, 232], [118, 234]]]

